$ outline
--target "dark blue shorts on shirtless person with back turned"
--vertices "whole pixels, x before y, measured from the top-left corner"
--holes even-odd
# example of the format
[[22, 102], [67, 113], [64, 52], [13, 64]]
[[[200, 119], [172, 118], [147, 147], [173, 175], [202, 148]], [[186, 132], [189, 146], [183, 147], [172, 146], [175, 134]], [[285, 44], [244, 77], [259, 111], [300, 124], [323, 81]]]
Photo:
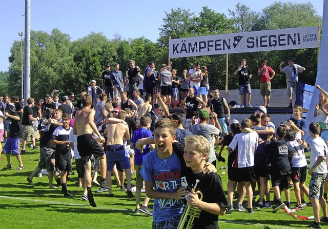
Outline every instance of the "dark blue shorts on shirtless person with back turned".
[[130, 169], [130, 161], [124, 145], [108, 145], [106, 150], [107, 171], [113, 171], [116, 162], [122, 169]]

